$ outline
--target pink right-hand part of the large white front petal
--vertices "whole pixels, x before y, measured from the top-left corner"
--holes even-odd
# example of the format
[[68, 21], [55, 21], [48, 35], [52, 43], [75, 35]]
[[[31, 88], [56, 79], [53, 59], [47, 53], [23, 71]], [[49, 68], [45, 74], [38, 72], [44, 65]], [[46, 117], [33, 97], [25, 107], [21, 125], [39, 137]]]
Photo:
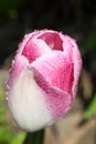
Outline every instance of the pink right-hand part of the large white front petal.
[[32, 71], [38, 85], [45, 92], [46, 109], [53, 121], [55, 122], [65, 116], [72, 106], [71, 95], [58, 88], [52, 86], [35, 68], [32, 68]]

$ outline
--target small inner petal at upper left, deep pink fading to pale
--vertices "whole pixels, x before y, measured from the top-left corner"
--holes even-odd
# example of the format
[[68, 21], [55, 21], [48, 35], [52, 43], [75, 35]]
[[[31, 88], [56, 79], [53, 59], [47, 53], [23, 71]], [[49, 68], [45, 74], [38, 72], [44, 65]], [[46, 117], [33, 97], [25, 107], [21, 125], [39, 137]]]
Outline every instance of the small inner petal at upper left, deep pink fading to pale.
[[51, 50], [44, 41], [32, 38], [23, 48], [22, 55], [29, 60], [29, 63], [32, 63], [42, 54], [49, 53], [49, 51]]

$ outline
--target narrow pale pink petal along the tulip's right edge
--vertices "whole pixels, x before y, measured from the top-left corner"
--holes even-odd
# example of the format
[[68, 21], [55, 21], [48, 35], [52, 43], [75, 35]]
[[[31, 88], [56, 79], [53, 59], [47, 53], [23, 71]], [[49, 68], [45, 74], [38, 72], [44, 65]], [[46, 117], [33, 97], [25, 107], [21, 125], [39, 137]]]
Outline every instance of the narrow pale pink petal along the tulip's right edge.
[[73, 82], [72, 91], [73, 91], [73, 96], [75, 96], [77, 91], [78, 79], [82, 70], [82, 58], [75, 40], [70, 38], [68, 35], [64, 37], [63, 47], [65, 53], [67, 54], [71, 53], [72, 60], [74, 62], [74, 73], [73, 73], [74, 82]]

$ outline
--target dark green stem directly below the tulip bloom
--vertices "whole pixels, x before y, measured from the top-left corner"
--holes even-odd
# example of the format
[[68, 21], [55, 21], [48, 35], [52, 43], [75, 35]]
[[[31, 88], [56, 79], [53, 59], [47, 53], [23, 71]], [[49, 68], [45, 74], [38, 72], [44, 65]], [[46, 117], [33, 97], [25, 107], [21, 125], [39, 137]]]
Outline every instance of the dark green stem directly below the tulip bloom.
[[43, 144], [44, 141], [44, 130], [28, 133], [23, 144]]

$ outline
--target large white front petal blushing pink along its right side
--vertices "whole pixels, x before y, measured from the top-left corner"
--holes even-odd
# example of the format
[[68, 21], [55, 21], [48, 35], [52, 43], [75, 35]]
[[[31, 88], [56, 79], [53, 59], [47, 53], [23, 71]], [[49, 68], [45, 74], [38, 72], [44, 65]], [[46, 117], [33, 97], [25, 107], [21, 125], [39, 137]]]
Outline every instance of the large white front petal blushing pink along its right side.
[[71, 109], [72, 100], [67, 93], [47, 84], [35, 69], [25, 69], [9, 91], [8, 104], [15, 123], [22, 130], [34, 132], [62, 119]]

